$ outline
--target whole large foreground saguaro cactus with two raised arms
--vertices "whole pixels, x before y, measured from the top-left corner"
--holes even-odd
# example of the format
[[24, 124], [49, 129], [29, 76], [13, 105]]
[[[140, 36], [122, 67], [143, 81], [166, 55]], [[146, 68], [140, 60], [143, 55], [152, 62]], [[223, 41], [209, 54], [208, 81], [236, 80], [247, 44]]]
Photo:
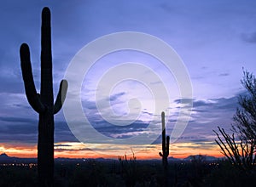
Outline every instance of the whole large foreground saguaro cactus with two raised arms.
[[67, 94], [67, 81], [62, 80], [59, 93], [53, 98], [50, 11], [42, 11], [41, 27], [41, 91], [37, 93], [32, 77], [30, 51], [26, 43], [20, 46], [20, 65], [26, 98], [39, 114], [38, 177], [43, 186], [52, 186], [54, 179], [54, 115], [61, 110]]

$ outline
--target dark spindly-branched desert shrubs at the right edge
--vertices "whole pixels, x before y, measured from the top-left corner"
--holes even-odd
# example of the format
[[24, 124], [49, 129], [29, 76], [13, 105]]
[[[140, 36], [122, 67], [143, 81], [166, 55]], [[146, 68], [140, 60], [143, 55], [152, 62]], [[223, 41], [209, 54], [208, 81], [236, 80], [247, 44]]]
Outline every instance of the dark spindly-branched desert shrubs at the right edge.
[[218, 127], [215, 140], [224, 156], [232, 165], [249, 172], [256, 164], [256, 78], [253, 73], [243, 71], [242, 86], [245, 94], [238, 98], [239, 107], [233, 116], [231, 124], [233, 133], [226, 133], [224, 128]]

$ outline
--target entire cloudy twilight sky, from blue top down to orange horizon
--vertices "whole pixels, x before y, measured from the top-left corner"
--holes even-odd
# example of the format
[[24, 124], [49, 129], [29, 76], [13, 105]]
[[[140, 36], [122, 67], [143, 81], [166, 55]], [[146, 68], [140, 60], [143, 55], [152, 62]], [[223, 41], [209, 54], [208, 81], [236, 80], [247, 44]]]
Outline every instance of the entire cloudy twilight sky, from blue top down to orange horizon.
[[[82, 75], [78, 93], [73, 92], [73, 80], [67, 80], [71, 97], [55, 115], [55, 157], [116, 158], [134, 151], [138, 158], [160, 158], [157, 104], [166, 111], [166, 133], [172, 134], [179, 128], [178, 116], [181, 122], [187, 117], [181, 110], [190, 102], [189, 122], [172, 142], [170, 156], [222, 156], [212, 129], [220, 126], [229, 131], [237, 97], [244, 93], [242, 68], [253, 74], [256, 71], [254, 1], [2, 1], [0, 153], [37, 156], [38, 114], [26, 100], [19, 49], [23, 42], [31, 49], [39, 92], [41, 11], [45, 6], [52, 16], [55, 96], [59, 82], [68, 77], [68, 68], [84, 46], [123, 31], [145, 33], [171, 46], [183, 61], [193, 93], [191, 98], [183, 98], [181, 87], [188, 82], [178, 82], [176, 77], [183, 70], [168, 71], [152, 54], [120, 50], [103, 55]], [[106, 48], [114, 47], [114, 43], [108, 45]], [[84, 64], [75, 66], [73, 73], [84, 70], [89, 59], [82, 59]], [[89, 122], [84, 122], [84, 116], [68, 122], [67, 116], [77, 115], [69, 105], [72, 95], [79, 97], [76, 99]]]

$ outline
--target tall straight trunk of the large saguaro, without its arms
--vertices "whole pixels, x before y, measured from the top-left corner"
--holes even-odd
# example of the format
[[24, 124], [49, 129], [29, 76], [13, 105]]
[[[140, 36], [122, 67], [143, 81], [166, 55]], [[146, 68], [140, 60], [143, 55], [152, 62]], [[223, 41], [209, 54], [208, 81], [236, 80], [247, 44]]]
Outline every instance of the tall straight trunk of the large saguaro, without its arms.
[[[50, 37], [50, 14], [43, 11], [41, 27], [41, 101], [47, 106], [39, 113], [38, 125], [38, 175], [53, 181], [54, 176], [54, 116], [53, 83]], [[45, 182], [44, 182], [45, 183]], [[47, 182], [49, 183], [49, 182]]]

